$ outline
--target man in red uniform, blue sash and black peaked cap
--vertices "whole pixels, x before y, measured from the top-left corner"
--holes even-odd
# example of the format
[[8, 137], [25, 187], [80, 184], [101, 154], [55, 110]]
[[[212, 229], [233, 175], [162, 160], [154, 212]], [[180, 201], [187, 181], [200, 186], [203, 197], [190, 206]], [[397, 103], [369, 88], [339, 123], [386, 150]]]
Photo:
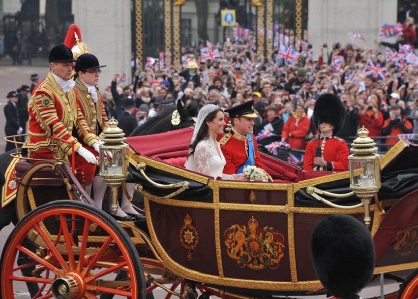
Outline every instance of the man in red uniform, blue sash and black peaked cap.
[[243, 173], [247, 165], [264, 169], [253, 134], [254, 118], [257, 117], [253, 104], [254, 100], [249, 100], [225, 110], [231, 119], [232, 129], [219, 141], [226, 160], [223, 173]]

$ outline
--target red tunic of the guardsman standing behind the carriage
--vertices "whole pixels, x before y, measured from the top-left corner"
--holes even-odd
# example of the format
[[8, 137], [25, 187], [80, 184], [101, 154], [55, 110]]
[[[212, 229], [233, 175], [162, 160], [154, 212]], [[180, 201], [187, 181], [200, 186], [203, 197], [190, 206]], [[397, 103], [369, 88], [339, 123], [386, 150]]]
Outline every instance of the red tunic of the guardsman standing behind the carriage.
[[[318, 146], [318, 138], [308, 142], [303, 158], [303, 169], [314, 170], [315, 165], [315, 149]], [[326, 171], [346, 171], [349, 166], [348, 155], [349, 149], [347, 142], [336, 136], [321, 137], [319, 146], [321, 147], [322, 156], [328, 162], [328, 166], [324, 167]]]

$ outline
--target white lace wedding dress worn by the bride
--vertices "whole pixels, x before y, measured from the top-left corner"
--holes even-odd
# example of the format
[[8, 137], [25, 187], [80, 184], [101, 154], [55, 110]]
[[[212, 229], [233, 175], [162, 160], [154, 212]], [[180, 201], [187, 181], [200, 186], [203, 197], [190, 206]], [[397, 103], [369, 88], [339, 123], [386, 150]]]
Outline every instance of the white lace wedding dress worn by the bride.
[[226, 164], [221, 147], [212, 138], [201, 140], [195, 148], [193, 155], [187, 158], [184, 167], [186, 169], [201, 172], [214, 178], [221, 177], [224, 180], [234, 180], [232, 174], [222, 173]]

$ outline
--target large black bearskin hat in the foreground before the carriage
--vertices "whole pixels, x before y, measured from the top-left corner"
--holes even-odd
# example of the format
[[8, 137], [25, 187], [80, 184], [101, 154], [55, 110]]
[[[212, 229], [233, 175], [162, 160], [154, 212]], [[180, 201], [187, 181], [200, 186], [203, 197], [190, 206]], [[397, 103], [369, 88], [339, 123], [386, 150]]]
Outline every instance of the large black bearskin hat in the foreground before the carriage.
[[311, 256], [317, 277], [335, 297], [358, 298], [373, 276], [373, 239], [365, 225], [349, 215], [329, 215], [317, 223]]

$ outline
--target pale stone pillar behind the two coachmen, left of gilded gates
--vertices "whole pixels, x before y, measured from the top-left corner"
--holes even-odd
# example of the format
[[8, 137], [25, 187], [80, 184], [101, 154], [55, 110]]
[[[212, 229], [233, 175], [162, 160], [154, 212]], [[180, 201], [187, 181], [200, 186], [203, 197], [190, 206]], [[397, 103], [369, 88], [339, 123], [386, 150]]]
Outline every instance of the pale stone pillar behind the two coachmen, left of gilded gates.
[[115, 73], [131, 76], [131, 0], [73, 0], [74, 23], [103, 68], [99, 88], [110, 85]]

